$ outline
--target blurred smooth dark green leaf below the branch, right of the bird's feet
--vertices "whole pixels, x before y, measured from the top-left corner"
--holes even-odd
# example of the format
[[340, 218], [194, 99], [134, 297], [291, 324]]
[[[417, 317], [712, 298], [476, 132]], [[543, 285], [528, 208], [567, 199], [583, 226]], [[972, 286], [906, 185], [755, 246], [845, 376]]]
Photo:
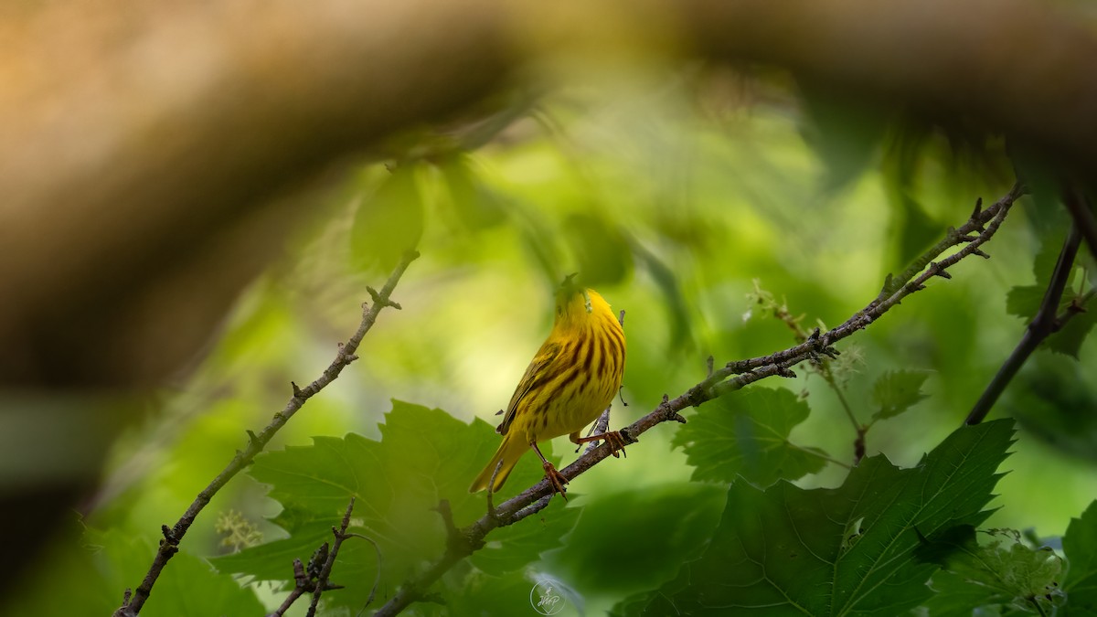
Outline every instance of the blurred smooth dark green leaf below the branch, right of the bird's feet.
[[[726, 498], [723, 486], [697, 483], [600, 493], [544, 563], [587, 596], [653, 588], [700, 554]], [[608, 556], [612, 568], [606, 565]]]

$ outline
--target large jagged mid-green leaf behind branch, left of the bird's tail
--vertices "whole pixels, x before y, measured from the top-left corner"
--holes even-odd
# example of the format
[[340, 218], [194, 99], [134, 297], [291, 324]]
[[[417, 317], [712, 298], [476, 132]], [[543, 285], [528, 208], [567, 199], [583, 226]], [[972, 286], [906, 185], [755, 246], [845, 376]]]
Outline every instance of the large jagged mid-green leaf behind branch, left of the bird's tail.
[[[482, 419], [465, 424], [440, 410], [398, 401], [385, 416], [381, 435], [381, 441], [353, 434], [342, 439], [314, 437], [313, 446], [258, 457], [249, 473], [271, 485], [270, 496], [284, 508], [274, 521], [290, 537], [218, 558], [217, 568], [258, 581], [291, 581], [293, 559], [307, 561], [320, 543], [331, 540], [331, 527], [351, 496], [357, 497], [351, 531], [381, 547], [380, 595], [391, 596], [408, 575], [441, 557], [446, 532], [436, 508], [449, 501], [457, 526], [484, 515], [485, 495], [470, 494], [468, 484], [487, 464], [499, 437]], [[552, 460], [548, 447], [541, 449]], [[543, 475], [534, 456], [523, 457], [497, 503]], [[559, 546], [578, 509], [553, 506], [542, 514], [545, 523], [530, 519], [496, 530], [478, 564], [493, 573], [522, 568]], [[361, 607], [376, 573], [373, 547], [351, 538], [331, 575], [347, 588], [326, 595], [326, 602]]]

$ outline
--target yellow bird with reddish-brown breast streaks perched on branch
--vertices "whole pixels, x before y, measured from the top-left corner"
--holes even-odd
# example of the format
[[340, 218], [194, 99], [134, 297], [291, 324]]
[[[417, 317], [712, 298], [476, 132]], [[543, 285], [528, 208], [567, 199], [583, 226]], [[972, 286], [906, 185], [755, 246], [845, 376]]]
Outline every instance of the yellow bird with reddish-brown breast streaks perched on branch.
[[556, 291], [552, 332], [514, 389], [502, 424], [496, 428], [502, 444], [473, 481], [468, 489], [472, 493], [488, 484], [493, 484], [493, 493], [498, 491], [518, 459], [532, 448], [555, 492], [566, 498], [567, 479], [538, 448], [538, 441], [561, 435], [580, 445], [604, 440], [614, 457], [618, 450], [624, 450], [624, 439], [615, 430], [579, 437], [579, 431], [601, 415], [621, 389], [624, 330], [609, 303], [595, 290], [576, 284], [574, 278], [572, 274], [564, 279]]

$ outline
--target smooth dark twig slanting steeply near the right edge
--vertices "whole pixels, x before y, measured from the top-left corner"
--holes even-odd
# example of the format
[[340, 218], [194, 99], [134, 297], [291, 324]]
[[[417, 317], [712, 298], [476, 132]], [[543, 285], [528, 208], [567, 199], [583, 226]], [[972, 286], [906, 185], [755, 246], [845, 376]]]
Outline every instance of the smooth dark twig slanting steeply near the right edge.
[[[1068, 197], [1067, 201], [1072, 201], [1072, 199]], [[1059, 303], [1062, 301], [1063, 292], [1066, 290], [1066, 283], [1071, 278], [1071, 270], [1074, 267], [1074, 259], [1077, 257], [1081, 243], [1082, 233], [1079, 227], [1077, 224], [1072, 224], [1066, 239], [1063, 240], [1063, 248], [1059, 251], [1059, 260], [1055, 261], [1055, 269], [1051, 273], [1051, 281], [1048, 283], [1048, 290], [1043, 293], [1043, 300], [1040, 302], [1040, 308], [1037, 311], [1036, 317], [1032, 318], [1032, 323], [1026, 328], [1025, 335], [1021, 336], [1017, 347], [1006, 358], [1002, 368], [998, 369], [994, 379], [991, 380], [989, 385], [986, 386], [979, 401], [975, 402], [975, 406], [971, 408], [971, 413], [968, 414], [964, 424], [971, 425], [983, 422], [986, 414], [991, 413], [991, 407], [997, 402], [998, 396], [1005, 392], [1006, 386], [1017, 375], [1017, 371], [1025, 366], [1025, 362], [1036, 351], [1036, 348], [1049, 336], [1056, 333], [1067, 319], [1074, 316], [1075, 312], [1067, 311], [1060, 318], [1058, 312]]]

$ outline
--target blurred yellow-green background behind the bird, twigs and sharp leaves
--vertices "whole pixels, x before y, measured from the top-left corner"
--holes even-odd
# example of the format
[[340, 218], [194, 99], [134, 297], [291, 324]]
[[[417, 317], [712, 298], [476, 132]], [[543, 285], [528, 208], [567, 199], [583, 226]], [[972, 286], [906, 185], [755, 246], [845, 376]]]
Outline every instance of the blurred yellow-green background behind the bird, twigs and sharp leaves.
[[[333, 183], [316, 206], [315, 224], [246, 291], [208, 356], [147, 402], [147, 419], [116, 444], [82, 524], [104, 530], [104, 545], [118, 551], [151, 550], [159, 526], [178, 519], [242, 448], [245, 430], [258, 430], [283, 407], [290, 381], [303, 384], [320, 373], [337, 343], [357, 327], [360, 305], [369, 300], [365, 287], [378, 287], [386, 277], [386, 257], [371, 253], [377, 235], [361, 236], [363, 226], [376, 224], [363, 223], [361, 213], [381, 201], [396, 201], [384, 206], [389, 213], [383, 218], [394, 236], [405, 227], [418, 235], [414, 227], [421, 223], [422, 257], [394, 294], [403, 310], [382, 314], [361, 358], [308, 402], [270, 450], [309, 445], [318, 435], [377, 439], [392, 399], [495, 424], [496, 411], [551, 327], [553, 284], [577, 270], [626, 312], [627, 406], [615, 405], [611, 420], [623, 426], [664, 394], [676, 396], [700, 381], [710, 355], [719, 364], [794, 343], [784, 324], [751, 303], [755, 281], [804, 315], [805, 326], [837, 326], [875, 298], [912, 246], [926, 248], [943, 228], [966, 220], [976, 197], [994, 201], [1010, 184], [964, 167], [932, 133], [918, 142], [916, 165], [905, 166], [909, 159], [896, 154], [895, 144], [908, 142], [894, 133], [879, 139], [872, 131], [860, 137], [829, 134], [834, 123], [858, 126], [863, 119], [847, 110], [819, 121], [780, 85], [739, 85], [703, 71], [627, 77], [601, 85], [592, 79], [547, 97], [474, 152], [405, 162], [399, 181], [414, 183], [415, 191], [387, 184], [393, 175], [381, 164], [363, 164]], [[735, 89], [740, 86], [743, 92]], [[1006, 296], [1011, 287], [1034, 282], [1040, 244], [1032, 220], [1042, 215], [1032, 209], [1028, 200], [1015, 209], [985, 247], [992, 259], [964, 260], [952, 280], [932, 280], [838, 345], [844, 357], [860, 359], [841, 382], [862, 420], [873, 411], [879, 375], [929, 372], [929, 397], [873, 427], [870, 455], [916, 463], [960, 425], [1019, 339], [1025, 322], [1007, 314]], [[1086, 340], [1082, 368], [1070, 380], [1083, 394], [1071, 404], [1094, 400], [1094, 372], [1085, 370], [1094, 352]], [[1049, 358], [1042, 361], [1073, 362]], [[806, 395], [812, 414], [792, 439], [850, 461], [855, 435], [836, 395], [818, 375], [798, 373], [796, 380], [766, 384]], [[1055, 410], [1041, 407], [1054, 407], [1054, 401], [1033, 397], [1030, 388], [1014, 390], [992, 417], [1011, 410], [1028, 426], [1054, 424], [1043, 418], [1055, 417]], [[573, 483], [586, 505], [576, 541], [643, 534], [644, 520], [677, 518], [697, 527], [686, 529], [676, 546], [694, 550], [687, 549], [703, 536], [695, 530], [719, 519], [723, 489], [690, 483], [692, 468], [681, 449], [671, 448], [676, 430], [674, 424], [655, 428], [630, 447], [627, 458], [599, 464]], [[1070, 431], [1022, 425], [989, 526], [1061, 535], [1097, 495], [1093, 462], [1055, 442]], [[1083, 441], [1073, 450], [1085, 452], [1085, 444], [1094, 442]], [[554, 448], [565, 462], [574, 456], [566, 438]], [[835, 486], [845, 473], [830, 464], [798, 484]], [[521, 489], [511, 483], [505, 493]], [[267, 540], [284, 534], [264, 520], [279, 505], [241, 475], [214, 498], [184, 551], [225, 552], [214, 521], [229, 509], [260, 525]], [[66, 582], [72, 593], [55, 598], [58, 604], [86, 602], [87, 610], [73, 614], [109, 614], [142, 569], [103, 574], [110, 570], [97, 561], [103, 553], [79, 538], [76, 529], [59, 540], [43, 571], [73, 573]], [[620, 569], [611, 558], [596, 563], [596, 549], [576, 547], [569, 551], [565, 542], [536, 569], [574, 579], [588, 614], [675, 574], [638, 568], [643, 554], [623, 556], [629, 563]], [[173, 562], [166, 576], [176, 568]], [[43, 575], [24, 597], [53, 584]], [[525, 590], [509, 580], [496, 595], [518, 598]], [[276, 605], [272, 592], [260, 591]], [[154, 597], [160, 593], [158, 586]], [[476, 593], [470, 590], [470, 597]], [[18, 613], [15, 602], [11, 610]]]

